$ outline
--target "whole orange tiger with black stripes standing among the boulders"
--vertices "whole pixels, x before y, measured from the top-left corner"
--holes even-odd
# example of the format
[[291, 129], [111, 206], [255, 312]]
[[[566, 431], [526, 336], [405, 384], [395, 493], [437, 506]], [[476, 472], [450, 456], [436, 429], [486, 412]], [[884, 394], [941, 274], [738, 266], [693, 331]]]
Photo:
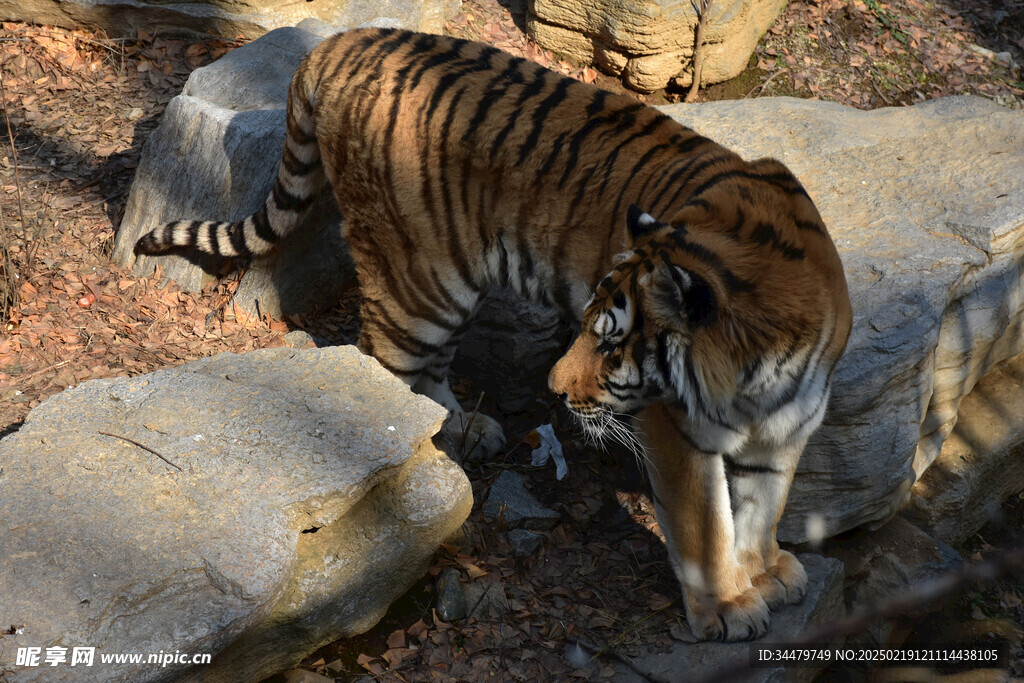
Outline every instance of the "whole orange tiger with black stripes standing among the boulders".
[[635, 438], [694, 635], [758, 638], [803, 598], [776, 526], [851, 306], [785, 166], [493, 46], [397, 29], [325, 39], [286, 123], [256, 213], [166, 223], [136, 253], [266, 254], [330, 183], [362, 352], [494, 453], [501, 425], [467, 420], [449, 385], [459, 339], [493, 287], [554, 308], [579, 333], [550, 389], [588, 433]]

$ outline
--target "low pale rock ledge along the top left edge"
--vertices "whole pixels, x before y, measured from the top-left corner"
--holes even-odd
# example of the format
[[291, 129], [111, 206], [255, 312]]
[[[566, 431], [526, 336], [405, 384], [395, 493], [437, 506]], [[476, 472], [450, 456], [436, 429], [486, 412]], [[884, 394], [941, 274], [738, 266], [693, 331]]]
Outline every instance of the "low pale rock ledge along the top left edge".
[[0, 0], [5, 22], [102, 29], [116, 38], [136, 32], [163, 36], [257, 38], [268, 31], [313, 18], [335, 26], [358, 26], [386, 16], [401, 26], [440, 33], [461, 0]]

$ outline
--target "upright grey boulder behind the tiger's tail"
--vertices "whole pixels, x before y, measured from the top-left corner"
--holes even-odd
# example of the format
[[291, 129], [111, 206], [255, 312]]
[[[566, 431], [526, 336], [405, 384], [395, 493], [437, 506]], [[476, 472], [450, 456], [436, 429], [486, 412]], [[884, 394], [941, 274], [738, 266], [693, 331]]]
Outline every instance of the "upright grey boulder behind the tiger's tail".
[[[169, 220], [236, 220], [263, 205], [285, 145], [288, 85], [302, 58], [331, 33], [333, 27], [309, 20], [278, 29], [193, 72], [142, 150], [114, 260], [134, 262], [139, 274], [159, 264], [186, 291], [203, 288], [221, 261], [177, 254], [136, 259], [135, 242]], [[301, 314], [354, 286], [341, 216], [328, 188], [307, 229], [255, 261], [236, 300], [251, 313]]]

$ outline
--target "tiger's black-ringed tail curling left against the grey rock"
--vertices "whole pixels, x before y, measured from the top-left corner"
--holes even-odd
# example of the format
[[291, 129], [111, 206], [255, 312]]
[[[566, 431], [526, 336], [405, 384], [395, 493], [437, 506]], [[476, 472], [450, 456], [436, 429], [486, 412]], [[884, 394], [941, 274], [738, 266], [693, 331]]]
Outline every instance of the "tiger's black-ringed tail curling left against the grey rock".
[[315, 84], [308, 60], [292, 79], [288, 93], [285, 152], [273, 191], [253, 215], [234, 222], [176, 220], [146, 232], [135, 243], [136, 254], [199, 250], [215, 256], [249, 258], [271, 251], [302, 222], [324, 186], [316, 127]]

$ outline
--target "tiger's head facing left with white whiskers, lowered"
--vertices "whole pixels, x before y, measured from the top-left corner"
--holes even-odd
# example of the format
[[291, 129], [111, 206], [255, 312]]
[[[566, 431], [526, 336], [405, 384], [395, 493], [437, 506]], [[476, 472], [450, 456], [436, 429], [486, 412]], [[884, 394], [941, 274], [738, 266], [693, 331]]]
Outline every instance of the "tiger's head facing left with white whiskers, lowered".
[[720, 295], [685, 256], [695, 246], [684, 227], [635, 205], [627, 223], [631, 251], [614, 257], [579, 336], [548, 376], [551, 390], [598, 439], [628, 440], [618, 417], [654, 401], [678, 402], [692, 382], [685, 356], [721, 313]]

